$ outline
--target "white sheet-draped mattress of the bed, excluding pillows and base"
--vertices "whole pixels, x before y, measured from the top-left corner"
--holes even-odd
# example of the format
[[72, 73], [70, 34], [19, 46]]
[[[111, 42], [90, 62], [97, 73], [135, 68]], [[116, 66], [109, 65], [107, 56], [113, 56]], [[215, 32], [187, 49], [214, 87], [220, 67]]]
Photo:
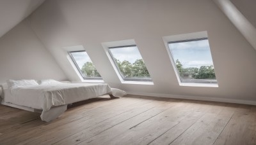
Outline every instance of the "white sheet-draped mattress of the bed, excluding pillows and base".
[[48, 111], [52, 106], [70, 104], [107, 93], [111, 93], [111, 88], [104, 83], [19, 86], [4, 89], [4, 102]]

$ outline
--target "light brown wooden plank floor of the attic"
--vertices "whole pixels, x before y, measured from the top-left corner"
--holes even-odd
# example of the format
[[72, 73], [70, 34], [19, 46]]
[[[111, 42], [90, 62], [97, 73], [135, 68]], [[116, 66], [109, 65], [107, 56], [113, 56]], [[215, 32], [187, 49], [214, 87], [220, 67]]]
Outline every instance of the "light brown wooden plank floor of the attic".
[[[256, 106], [127, 96], [73, 104], [57, 120], [0, 106], [0, 144], [256, 144]], [[33, 114], [34, 115], [34, 114]]]

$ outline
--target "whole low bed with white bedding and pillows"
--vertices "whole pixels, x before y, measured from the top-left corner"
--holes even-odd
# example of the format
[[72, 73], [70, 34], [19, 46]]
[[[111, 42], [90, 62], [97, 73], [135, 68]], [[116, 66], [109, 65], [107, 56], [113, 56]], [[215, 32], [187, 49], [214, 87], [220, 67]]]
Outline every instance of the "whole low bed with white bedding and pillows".
[[126, 93], [106, 83], [61, 83], [53, 79], [11, 80], [0, 85], [1, 104], [41, 113], [42, 121], [52, 121], [67, 110], [67, 104], [111, 94]]

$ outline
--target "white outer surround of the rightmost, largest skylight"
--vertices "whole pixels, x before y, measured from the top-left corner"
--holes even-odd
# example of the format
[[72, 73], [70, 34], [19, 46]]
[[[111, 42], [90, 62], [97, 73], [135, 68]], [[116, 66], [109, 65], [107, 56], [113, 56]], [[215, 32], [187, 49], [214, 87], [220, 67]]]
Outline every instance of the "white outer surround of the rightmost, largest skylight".
[[[180, 86], [218, 87], [217, 76], [216, 76], [216, 83], [210, 83], [210, 82], [203, 83], [203, 81], [201, 81], [201, 82], [198, 81], [198, 83], [195, 83], [195, 82], [188, 83], [188, 82], [181, 81], [180, 74], [176, 67], [174, 57], [169, 48], [169, 43], [188, 42], [188, 41], [193, 41], [193, 40], [196, 41], [196, 40], [200, 40], [200, 39], [208, 39], [207, 31], [193, 32], [193, 33], [189, 33], [189, 34], [180, 34], [180, 35], [175, 35], [175, 36], [164, 36], [163, 37], [164, 45], [166, 46], [166, 50], [167, 50], [170, 60], [172, 62], [172, 66], [173, 66], [173, 69], [175, 71], [175, 74], [176, 74], [176, 77], [177, 77], [177, 80], [178, 80]], [[210, 51], [211, 51], [211, 48], [210, 48]], [[213, 58], [212, 58], [212, 62], [213, 62]]]

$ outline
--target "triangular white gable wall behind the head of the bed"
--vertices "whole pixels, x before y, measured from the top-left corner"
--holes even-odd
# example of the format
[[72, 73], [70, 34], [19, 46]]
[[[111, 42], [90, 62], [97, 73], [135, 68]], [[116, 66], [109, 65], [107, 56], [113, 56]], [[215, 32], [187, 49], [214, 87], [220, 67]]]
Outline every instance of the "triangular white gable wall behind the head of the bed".
[[29, 21], [23, 20], [0, 38], [0, 83], [6, 79], [47, 78], [67, 79]]

